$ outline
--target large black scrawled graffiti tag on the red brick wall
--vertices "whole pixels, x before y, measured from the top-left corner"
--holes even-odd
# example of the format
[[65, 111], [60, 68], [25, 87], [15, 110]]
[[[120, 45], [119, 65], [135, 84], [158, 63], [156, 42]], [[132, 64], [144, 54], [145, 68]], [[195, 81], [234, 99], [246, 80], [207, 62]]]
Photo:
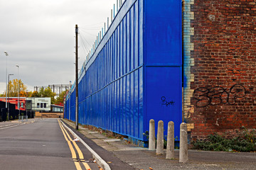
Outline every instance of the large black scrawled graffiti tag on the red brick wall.
[[245, 94], [245, 87], [235, 84], [230, 89], [225, 89], [221, 86], [213, 88], [200, 87], [193, 92], [193, 98], [196, 100], [196, 107], [204, 108], [220, 104], [234, 105], [239, 98], [245, 97]]

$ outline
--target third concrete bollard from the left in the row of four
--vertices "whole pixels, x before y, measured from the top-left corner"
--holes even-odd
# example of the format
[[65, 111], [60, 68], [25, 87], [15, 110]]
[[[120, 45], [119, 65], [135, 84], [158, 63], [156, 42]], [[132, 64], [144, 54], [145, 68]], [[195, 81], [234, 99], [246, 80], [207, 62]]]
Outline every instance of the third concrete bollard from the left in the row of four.
[[174, 159], [174, 122], [168, 123], [166, 159]]

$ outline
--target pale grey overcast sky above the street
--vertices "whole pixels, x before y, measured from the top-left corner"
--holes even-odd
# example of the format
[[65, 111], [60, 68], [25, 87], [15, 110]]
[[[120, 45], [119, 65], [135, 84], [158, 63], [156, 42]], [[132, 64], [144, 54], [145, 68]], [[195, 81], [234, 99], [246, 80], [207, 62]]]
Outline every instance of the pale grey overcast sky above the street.
[[[75, 24], [79, 64], [104, 27], [116, 0], [0, 0], [0, 93], [10, 79], [33, 86], [69, 84], [75, 79]], [[82, 40], [82, 41], [81, 41]], [[80, 67], [79, 67], [80, 68]]]

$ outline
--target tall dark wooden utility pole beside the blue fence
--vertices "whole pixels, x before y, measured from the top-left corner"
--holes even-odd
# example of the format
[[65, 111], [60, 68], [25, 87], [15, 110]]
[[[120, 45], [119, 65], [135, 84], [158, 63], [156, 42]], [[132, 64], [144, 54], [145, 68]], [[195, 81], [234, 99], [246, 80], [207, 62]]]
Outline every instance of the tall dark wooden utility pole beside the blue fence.
[[78, 130], [78, 25], [75, 25], [75, 129]]

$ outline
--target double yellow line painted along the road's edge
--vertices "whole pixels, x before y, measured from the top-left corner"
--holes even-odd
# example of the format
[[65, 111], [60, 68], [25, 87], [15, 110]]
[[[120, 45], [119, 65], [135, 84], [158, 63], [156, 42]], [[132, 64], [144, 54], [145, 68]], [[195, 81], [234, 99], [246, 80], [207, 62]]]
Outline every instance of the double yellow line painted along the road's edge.
[[[83, 166], [85, 166], [85, 169], [90, 170], [90, 166], [85, 162], [85, 158], [83, 157], [83, 154], [80, 150], [80, 148], [78, 147], [78, 145], [75, 143], [75, 141], [73, 141], [70, 137], [70, 135], [68, 134], [67, 130], [65, 130], [65, 128], [63, 127], [62, 123], [60, 122], [60, 120], [58, 119], [58, 123], [60, 125], [60, 129], [63, 132], [63, 135], [65, 137], [65, 140], [68, 142], [68, 147], [70, 148], [71, 154], [72, 154], [72, 159], [75, 163], [75, 167], [78, 170], [82, 170], [82, 167], [80, 166], [79, 162], [82, 162]], [[75, 153], [75, 149], [73, 147], [73, 145], [75, 146], [75, 149], [78, 152], [78, 157], [77, 154]]]

